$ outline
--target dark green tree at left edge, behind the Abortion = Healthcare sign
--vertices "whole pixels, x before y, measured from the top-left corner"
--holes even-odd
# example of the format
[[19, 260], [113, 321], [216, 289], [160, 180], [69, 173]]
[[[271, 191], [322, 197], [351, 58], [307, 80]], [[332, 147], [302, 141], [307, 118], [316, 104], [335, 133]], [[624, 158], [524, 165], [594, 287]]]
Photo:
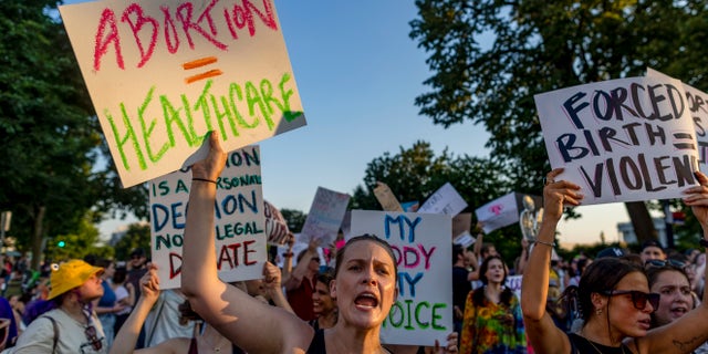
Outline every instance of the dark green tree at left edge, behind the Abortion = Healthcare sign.
[[[100, 126], [55, 1], [0, 1], [0, 207], [21, 250], [41, 261], [48, 237], [76, 233], [134, 188], [113, 194]], [[115, 175], [115, 173], [113, 173]], [[107, 192], [111, 192], [108, 195]], [[103, 202], [98, 202], [98, 201]], [[145, 200], [145, 198], [143, 198]]]

